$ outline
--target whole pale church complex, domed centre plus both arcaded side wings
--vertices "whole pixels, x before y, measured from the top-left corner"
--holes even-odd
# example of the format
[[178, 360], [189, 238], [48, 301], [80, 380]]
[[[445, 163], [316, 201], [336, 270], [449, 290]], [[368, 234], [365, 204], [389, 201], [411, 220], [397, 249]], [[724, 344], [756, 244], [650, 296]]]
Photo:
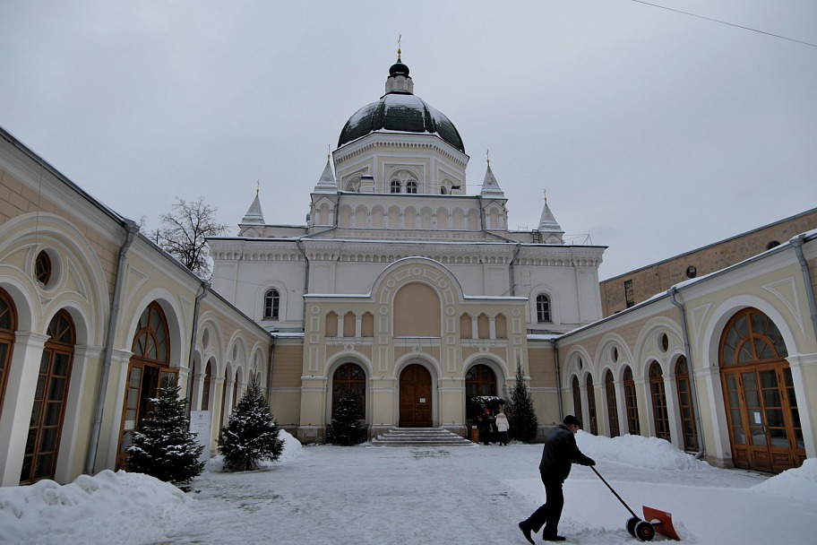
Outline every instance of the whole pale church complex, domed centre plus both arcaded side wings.
[[398, 58], [304, 225], [268, 223], [256, 193], [237, 236], [209, 241], [212, 285], [0, 128], [0, 486], [122, 468], [161, 385], [207, 417], [214, 455], [253, 379], [321, 443], [344, 390], [369, 437], [469, 437], [469, 399], [507, 399], [518, 369], [540, 436], [573, 413], [722, 467], [817, 457], [817, 232], [787, 221], [605, 316], [606, 248], [564, 244], [546, 200], [537, 229], [509, 229], [490, 163], [468, 195], [460, 134], [413, 85]]

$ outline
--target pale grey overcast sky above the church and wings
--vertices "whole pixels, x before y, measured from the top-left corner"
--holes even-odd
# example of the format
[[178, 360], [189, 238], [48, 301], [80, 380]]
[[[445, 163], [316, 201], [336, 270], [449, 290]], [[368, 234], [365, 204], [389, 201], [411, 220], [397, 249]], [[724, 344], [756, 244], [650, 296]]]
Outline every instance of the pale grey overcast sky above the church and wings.
[[0, 0], [0, 125], [149, 229], [176, 195], [236, 232], [305, 223], [329, 149], [402, 35], [415, 94], [491, 168], [510, 226], [543, 190], [602, 279], [817, 206], [817, 2]]

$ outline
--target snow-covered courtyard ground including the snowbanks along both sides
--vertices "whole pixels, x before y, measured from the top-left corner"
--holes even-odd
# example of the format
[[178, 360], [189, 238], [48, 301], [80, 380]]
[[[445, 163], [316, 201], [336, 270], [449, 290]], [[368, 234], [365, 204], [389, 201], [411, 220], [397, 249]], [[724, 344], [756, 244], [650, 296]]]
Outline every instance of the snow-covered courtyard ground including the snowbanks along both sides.
[[[213, 459], [186, 494], [124, 471], [0, 489], [0, 542], [522, 545], [516, 524], [545, 499], [538, 445], [302, 447], [282, 436], [279, 462], [228, 473]], [[577, 441], [633, 510], [670, 512], [687, 543], [814, 542], [817, 460], [769, 478], [712, 468], [655, 438], [580, 431]], [[590, 468], [574, 465], [564, 493], [569, 542], [638, 542]]]

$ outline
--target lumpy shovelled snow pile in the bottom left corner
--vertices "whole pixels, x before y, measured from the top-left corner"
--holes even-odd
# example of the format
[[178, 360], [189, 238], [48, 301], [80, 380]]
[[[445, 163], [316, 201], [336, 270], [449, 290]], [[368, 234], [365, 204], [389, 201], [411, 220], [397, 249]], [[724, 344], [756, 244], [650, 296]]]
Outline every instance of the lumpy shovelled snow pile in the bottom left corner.
[[194, 515], [184, 492], [142, 473], [105, 470], [71, 484], [0, 488], [0, 541], [144, 543]]

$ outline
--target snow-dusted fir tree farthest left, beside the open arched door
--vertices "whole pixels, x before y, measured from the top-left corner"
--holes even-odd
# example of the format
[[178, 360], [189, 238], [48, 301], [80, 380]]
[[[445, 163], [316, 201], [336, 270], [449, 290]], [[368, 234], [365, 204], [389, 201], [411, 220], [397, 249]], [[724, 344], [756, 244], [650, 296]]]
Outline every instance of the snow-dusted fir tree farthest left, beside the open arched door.
[[159, 397], [150, 399], [152, 410], [142, 420], [133, 443], [127, 448], [127, 471], [145, 473], [176, 486], [202, 474], [199, 456], [204, 446], [190, 431], [186, 400], [179, 399], [181, 386], [159, 388]]

